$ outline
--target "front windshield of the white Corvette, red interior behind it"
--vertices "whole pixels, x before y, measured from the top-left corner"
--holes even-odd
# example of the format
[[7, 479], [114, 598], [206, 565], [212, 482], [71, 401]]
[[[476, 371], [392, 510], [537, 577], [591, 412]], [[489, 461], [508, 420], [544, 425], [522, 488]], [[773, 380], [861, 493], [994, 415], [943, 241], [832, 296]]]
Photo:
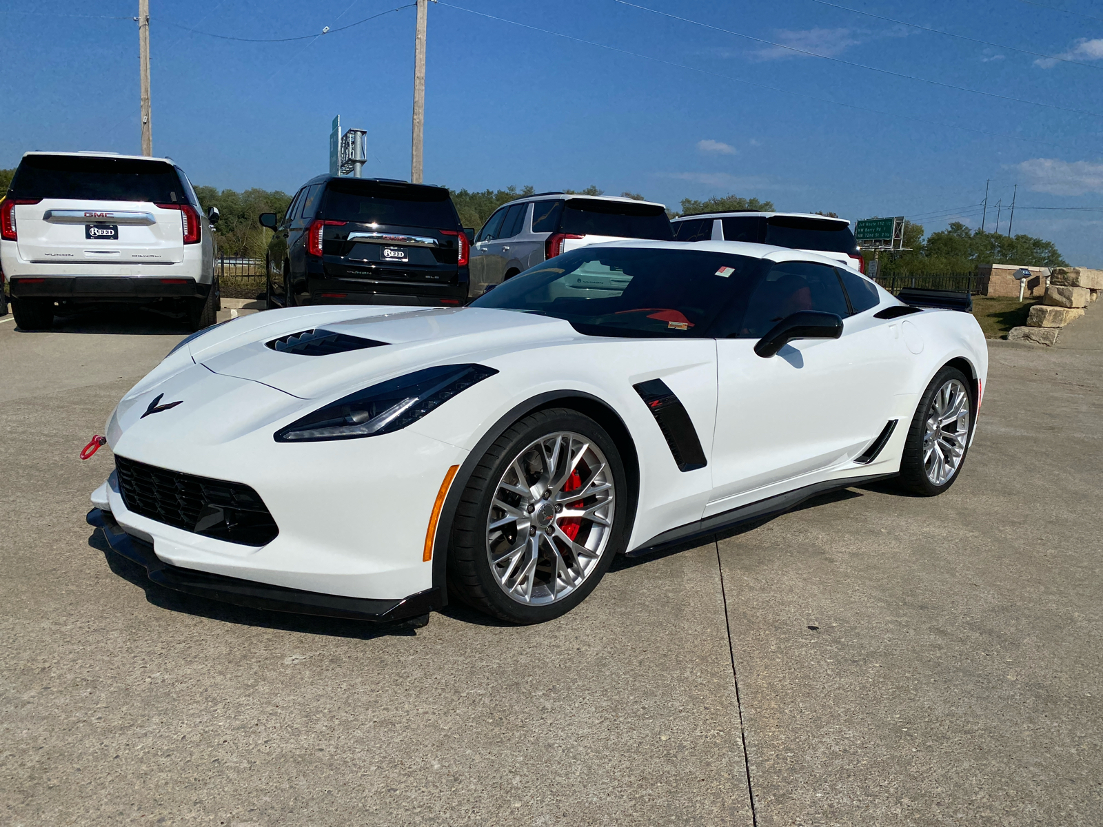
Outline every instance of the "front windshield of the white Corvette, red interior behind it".
[[471, 303], [555, 316], [596, 336], [708, 336], [745, 299], [762, 261], [702, 250], [583, 247], [514, 276]]

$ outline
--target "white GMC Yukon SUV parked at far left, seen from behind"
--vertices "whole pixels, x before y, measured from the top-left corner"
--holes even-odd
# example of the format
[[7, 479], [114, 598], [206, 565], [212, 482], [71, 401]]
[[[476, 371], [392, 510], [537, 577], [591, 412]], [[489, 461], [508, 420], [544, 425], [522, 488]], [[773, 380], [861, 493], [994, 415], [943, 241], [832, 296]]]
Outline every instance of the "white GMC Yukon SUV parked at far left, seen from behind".
[[192, 330], [219, 309], [212, 207], [164, 158], [28, 152], [0, 201], [0, 269], [15, 323], [49, 327], [85, 302], [184, 311]]

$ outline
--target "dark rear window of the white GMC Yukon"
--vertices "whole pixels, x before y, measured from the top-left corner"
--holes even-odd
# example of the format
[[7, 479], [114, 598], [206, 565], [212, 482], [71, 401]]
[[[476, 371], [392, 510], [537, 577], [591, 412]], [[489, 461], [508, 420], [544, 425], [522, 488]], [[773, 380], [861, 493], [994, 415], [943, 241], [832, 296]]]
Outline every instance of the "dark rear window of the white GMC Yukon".
[[188, 201], [175, 169], [164, 161], [94, 155], [26, 155], [15, 171], [10, 194], [19, 198]]

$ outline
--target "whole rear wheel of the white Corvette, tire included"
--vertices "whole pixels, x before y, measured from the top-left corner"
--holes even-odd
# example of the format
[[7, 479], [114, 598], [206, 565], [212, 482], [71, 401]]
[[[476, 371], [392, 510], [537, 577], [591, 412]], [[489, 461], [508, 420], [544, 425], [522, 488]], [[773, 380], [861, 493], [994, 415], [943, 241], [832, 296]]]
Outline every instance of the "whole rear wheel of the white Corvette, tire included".
[[943, 367], [931, 379], [908, 430], [900, 459], [901, 487], [935, 496], [954, 484], [973, 433], [974, 387], [955, 367]]

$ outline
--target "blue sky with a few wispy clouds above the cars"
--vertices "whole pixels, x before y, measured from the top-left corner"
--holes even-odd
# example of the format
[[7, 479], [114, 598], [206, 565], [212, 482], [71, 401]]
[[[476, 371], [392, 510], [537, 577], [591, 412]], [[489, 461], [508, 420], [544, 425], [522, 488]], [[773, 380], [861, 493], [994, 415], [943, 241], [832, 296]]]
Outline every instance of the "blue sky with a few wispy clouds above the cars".
[[[615, 0], [430, 4], [426, 181], [597, 184], [672, 205], [735, 193], [852, 219], [907, 215], [930, 232], [979, 226], [990, 179], [987, 228], [1003, 200], [1007, 232], [1018, 183], [1014, 232], [1103, 267], [1096, 3], [636, 1], [714, 28]], [[291, 192], [326, 170], [340, 114], [368, 130], [366, 174], [408, 178], [413, 8], [282, 43], [186, 31], [315, 35], [403, 2], [150, 0], [154, 153], [196, 184]], [[129, 18], [137, 6], [4, 2], [0, 167], [31, 149], [138, 151], [137, 25], [77, 17]]]

